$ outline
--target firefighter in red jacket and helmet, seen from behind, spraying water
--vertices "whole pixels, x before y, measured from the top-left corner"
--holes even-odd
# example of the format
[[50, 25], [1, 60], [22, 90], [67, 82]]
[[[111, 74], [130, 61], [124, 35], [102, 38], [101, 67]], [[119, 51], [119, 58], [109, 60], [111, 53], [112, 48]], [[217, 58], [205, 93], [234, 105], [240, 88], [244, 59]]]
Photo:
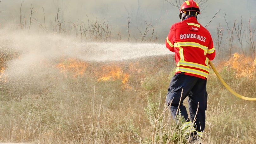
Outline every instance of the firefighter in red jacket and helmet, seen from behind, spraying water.
[[[207, 105], [206, 81], [209, 74], [209, 60], [215, 57], [211, 35], [197, 21], [200, 14], [198, 4], [185, 1], [180, 8], [180, 22], [173, 24], [165, 40], [166, 47], [174, 52], [176, 71], [172, 77], [166, 104], [171, 115], [183, 117], [182, 129], [188, 133], [189, 143], [201, 143], [205, 127]], [[183, 105], [188, 97], [189, 115]]]

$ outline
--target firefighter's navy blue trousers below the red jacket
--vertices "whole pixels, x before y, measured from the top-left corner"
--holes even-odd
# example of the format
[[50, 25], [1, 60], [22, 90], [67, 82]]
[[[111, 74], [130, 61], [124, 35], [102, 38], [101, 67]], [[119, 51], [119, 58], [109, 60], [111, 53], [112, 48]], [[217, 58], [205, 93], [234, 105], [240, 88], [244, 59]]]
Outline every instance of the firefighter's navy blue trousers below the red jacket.
[[[186, 97], [188, 97], [190, 118], [183, 105]], [[174, 118], [178, 114], [183, 116], [187, 122], [195, 120], [196, 131], [203, 131], [207, 106], [206, 80], [185, 74], [175, 74], [169, 84], [166, 104], [170, 106]]]

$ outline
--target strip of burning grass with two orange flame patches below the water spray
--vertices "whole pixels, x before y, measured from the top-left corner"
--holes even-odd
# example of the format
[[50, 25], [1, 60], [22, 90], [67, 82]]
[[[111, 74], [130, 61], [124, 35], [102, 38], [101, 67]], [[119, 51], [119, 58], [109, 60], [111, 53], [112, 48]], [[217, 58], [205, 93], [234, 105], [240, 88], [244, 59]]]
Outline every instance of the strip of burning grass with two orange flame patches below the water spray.
[[[129, 88], [127, 84], [129, 81], [129, 74], [122, 70], [124, 69], [124, 66], [122, 66], [124, 65], [123, 63], [98, 63], [98, 67], [94, 67], [93, 65], [95, 65], [95, 63], [88, 63], [74, 58], [67, 58], [58, 63], [56, 68], [60, 69], [60, 72], [63, 73], [65, 77], [67, 77], [68, 74], [71, 74], [74, 78], [83, 77], [85, 73], [88, 75], [88, 72], [90, 71], [91, 77], [97, 81], [120, 80], [123, 88]], [[132, 63], [130, 63], [130, 66], [131, 65]], [[89, 68], [89, 70], [87, 70], [87, 68]]]

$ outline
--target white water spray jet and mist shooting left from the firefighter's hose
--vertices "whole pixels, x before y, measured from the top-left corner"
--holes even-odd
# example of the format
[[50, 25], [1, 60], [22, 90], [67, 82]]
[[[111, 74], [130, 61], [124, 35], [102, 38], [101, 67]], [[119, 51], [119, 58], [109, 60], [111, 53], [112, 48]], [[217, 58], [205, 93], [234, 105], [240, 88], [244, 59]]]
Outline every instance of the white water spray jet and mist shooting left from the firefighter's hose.
[[19, 31], [1, 31], [0, 43], [1, 56], [6, 51], [17, 54], [6, 63], [4, 77], [8, 79], [9, 88], [21, 93], [42, 92], [59, 84], [64, 86], [64, 78], [56, 68], [62, 58], [105, 63], [169, 53], [162, 44], [81, 42], [59, 35]]

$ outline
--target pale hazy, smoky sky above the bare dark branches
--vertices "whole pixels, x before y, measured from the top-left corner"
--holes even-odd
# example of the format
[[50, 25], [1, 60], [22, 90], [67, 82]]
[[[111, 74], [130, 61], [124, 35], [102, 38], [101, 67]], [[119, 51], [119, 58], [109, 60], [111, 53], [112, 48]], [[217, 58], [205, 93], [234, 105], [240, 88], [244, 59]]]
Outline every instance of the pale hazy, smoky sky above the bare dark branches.
[[[1, 25], [9, 21], [20, 21], [20, 7], [23, 0], [2, 0], [0, 3]], [[168, 0], [170, 1], [170, 0]], [[200, 5], [199, 5], [200, 6]], [[21, 8], [21, 15], [29, 21], [30, 7], [33, 7], [33, 16], [43, 22], [43, 8], [45, 18], [49, 23], [54, 23], [58, 8], [59, 17], [62, 21], [109, 21], [116, 31], [127, 29], [128, 14], [131, 18], [130, 26], [143, 27], [145, 21], [151, 23], [158, 34], [166, 35], [171, 24], [180, 21], [179, 10], [171, 6], [166, 0], [24, 0]], [[198, 21], [205, 26], [215, 13], [219, 11], [209, 29], [215, 28], [216, 24], [224, 23], [224, 12], [227, 13], [227, 20], [244, 21], [252, 17], [255, 19], [255, 0], [208, 0], [208, 5], [199, 15]], [[203, 9], [203, 8], [202, 8]], [[88, 16], [88, 18], [87, 18]]]

